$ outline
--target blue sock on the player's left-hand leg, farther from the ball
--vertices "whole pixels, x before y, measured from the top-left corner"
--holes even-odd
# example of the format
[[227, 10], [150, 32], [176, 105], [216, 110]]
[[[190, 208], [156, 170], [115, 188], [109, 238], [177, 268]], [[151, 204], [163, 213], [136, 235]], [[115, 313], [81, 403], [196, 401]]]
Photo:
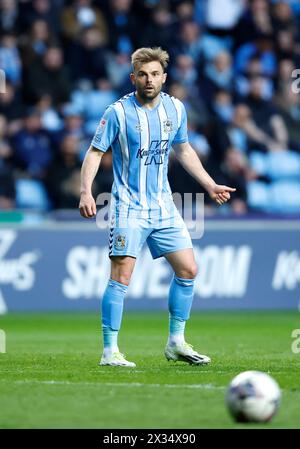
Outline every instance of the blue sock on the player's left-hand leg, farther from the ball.
[[118, 350], [118, 333], [123, 315], [123, 303], [128, 286], [110, 279], [102, 299], [102, 332], [104, 351]]

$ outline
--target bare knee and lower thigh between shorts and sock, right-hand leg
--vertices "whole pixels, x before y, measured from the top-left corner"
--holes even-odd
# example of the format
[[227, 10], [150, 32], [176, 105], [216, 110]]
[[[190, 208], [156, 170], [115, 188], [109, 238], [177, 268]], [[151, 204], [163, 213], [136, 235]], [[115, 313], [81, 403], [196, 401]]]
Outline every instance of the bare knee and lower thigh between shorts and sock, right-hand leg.
[[181, 249], [164, 255], [176, 276], [184, 279], [194, 279], [197, 275], [197, 264], [193, 248]]

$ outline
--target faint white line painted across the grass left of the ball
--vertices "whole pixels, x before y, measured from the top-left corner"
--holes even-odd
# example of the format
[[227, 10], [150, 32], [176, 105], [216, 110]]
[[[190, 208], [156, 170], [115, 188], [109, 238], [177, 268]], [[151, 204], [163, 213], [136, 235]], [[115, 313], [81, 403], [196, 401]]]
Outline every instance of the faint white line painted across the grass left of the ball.
[[203, 390], [223, 390], [225, 387], [213, 384], [147, 384], [140, 382], [70, 382], [64, 380], [16, 380], [15, 384], [41, 384], [41, 385], [84, 385], [84, 386], [106, 386], [106, 387], [130, 387], [130, 388], [189, 388]]

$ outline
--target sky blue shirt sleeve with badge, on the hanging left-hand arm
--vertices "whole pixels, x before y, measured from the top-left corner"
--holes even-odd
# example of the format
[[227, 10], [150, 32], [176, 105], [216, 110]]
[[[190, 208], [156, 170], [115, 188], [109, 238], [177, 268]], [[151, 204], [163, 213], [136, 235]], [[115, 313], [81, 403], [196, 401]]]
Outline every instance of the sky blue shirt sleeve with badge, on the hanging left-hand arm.
[[119, 121], [112, 106], [104, 112], [91, 145], [104, 153], [110, 148], [119, 133]]

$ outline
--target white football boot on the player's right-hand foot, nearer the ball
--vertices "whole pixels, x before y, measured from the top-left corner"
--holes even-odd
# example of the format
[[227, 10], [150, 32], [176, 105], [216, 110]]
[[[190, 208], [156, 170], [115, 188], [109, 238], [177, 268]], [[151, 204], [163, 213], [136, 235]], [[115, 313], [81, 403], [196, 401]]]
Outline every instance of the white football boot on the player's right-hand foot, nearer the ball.
[[190, 365], [207, 365], [210, 358], [193, 350], [193, 346], [183, 342], [167, 344], [165, 347], [166, 359], [189, 363]]

